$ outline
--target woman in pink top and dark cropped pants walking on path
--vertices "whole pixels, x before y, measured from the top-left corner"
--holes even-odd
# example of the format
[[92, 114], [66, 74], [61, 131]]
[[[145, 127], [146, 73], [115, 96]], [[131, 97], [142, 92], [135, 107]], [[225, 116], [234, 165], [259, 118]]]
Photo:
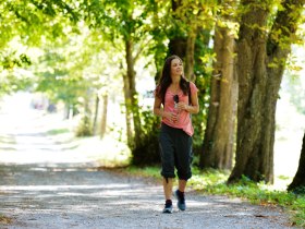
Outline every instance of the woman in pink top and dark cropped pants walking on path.
[[[166, 205], [163, 213], [172, 213], [172, 186], [179, 178], [179, 186], [174, 192], [178, 207], [185, 210], [184, 191], [192, 177], [192, 125], [191, 113], [199, 112], [197, 87], [187, 82], [183, 75], [183, 63], [178, 56], [169, 57], [163, 65], [161, 79], [155, 91], [154, 113], [162, 118], [159, 136], [161, 155], [161, 176]], [[161, 108], [162, 105], [162, 108]]]

